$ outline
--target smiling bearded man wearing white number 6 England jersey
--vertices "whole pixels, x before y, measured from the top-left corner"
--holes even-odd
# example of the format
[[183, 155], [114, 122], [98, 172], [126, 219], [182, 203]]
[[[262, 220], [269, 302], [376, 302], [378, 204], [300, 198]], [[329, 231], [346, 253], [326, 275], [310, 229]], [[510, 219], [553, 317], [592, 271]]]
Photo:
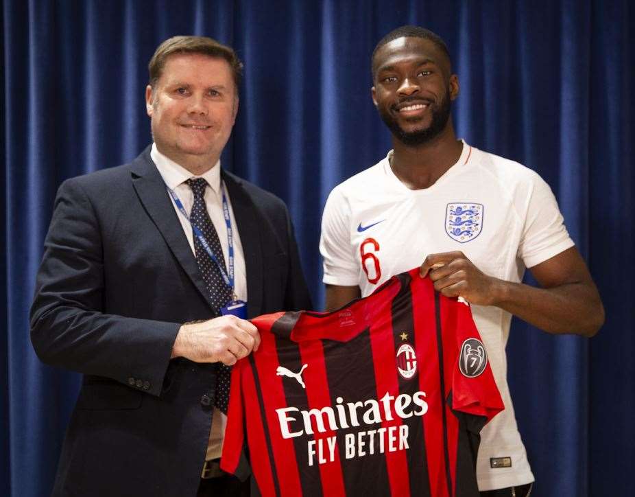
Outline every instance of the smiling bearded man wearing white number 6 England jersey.
[[[604, 319], [599, 294], [547, 183], [456, 139], [459, 80], [438, 35], [415, 26], [387, 34], [372, 54], [372, 81], [393, 150], [328, 197], [326, 308], [416, 266], [436, 290], [469, 302], [505, 403], [481, 432], [481, 496], [527, 496], [534, 476], [506, 380], [512, 314], [553, 334], [592, 336]], [[541, 288], [520, 283], [525, 268]]]

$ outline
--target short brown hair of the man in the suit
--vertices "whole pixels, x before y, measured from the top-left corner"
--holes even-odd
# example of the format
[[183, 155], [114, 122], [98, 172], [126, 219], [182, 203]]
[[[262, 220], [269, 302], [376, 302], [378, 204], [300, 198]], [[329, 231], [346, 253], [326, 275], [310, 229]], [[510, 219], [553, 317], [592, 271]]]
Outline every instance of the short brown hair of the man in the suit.
[[149, 85], [153, 88], [163, 74], [167, 58], [173, 54], [202, 54], [226, 60], [232, 71], [236, 89], [238, 89], [243, 76], [243, 63], [232, 47], [223, 45], [207, 36], [172, 36], [161, 43], [147, 65], [150, 76]]

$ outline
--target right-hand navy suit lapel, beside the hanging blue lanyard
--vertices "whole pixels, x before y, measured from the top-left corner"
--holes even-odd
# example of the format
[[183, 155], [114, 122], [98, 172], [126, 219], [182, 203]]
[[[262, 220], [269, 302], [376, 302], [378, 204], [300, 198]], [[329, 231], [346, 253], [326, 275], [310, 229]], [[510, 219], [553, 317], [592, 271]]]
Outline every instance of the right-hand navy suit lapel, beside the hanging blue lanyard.
[[243, 246], [245, 270], [247, 272], [248, 312], [250, 317], [254, 317], [262, 313], [264, 288], [263, 249], [260, 239], [259, 221], [256, 218], [256, 206], [254, 206], [248, 193], [245, 192], [240, 178], [224, 170], [221, 171], [221, 174], [227, 187]]

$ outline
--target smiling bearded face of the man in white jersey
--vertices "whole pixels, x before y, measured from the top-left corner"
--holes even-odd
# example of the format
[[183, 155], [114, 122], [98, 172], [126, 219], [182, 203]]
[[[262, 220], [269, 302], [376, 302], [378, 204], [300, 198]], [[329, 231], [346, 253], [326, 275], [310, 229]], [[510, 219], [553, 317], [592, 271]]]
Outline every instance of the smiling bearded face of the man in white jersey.
[[425, 38], [396, 38], [373, 59], [372, 100], [392, 135], [416, 146], [440, 135], [459, 93], [448, 56]]

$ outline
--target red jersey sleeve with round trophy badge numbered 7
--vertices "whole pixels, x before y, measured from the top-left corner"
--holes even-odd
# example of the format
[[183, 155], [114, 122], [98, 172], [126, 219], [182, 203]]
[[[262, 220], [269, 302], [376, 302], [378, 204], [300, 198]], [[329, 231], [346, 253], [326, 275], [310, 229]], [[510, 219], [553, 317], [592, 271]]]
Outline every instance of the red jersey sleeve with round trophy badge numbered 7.
[[[445, 330], [455, 329], [452, 367], [452, 408], [455, 411], [483, 417], [484, 426], [505, 408], [494, 380], [488, 354], [472, 320], [469, 305], [456, 299], [444, 299]], [[452, 321], [454, 321], [452, 323]], [[448, 326], [451, 325], [451, 326]]]

